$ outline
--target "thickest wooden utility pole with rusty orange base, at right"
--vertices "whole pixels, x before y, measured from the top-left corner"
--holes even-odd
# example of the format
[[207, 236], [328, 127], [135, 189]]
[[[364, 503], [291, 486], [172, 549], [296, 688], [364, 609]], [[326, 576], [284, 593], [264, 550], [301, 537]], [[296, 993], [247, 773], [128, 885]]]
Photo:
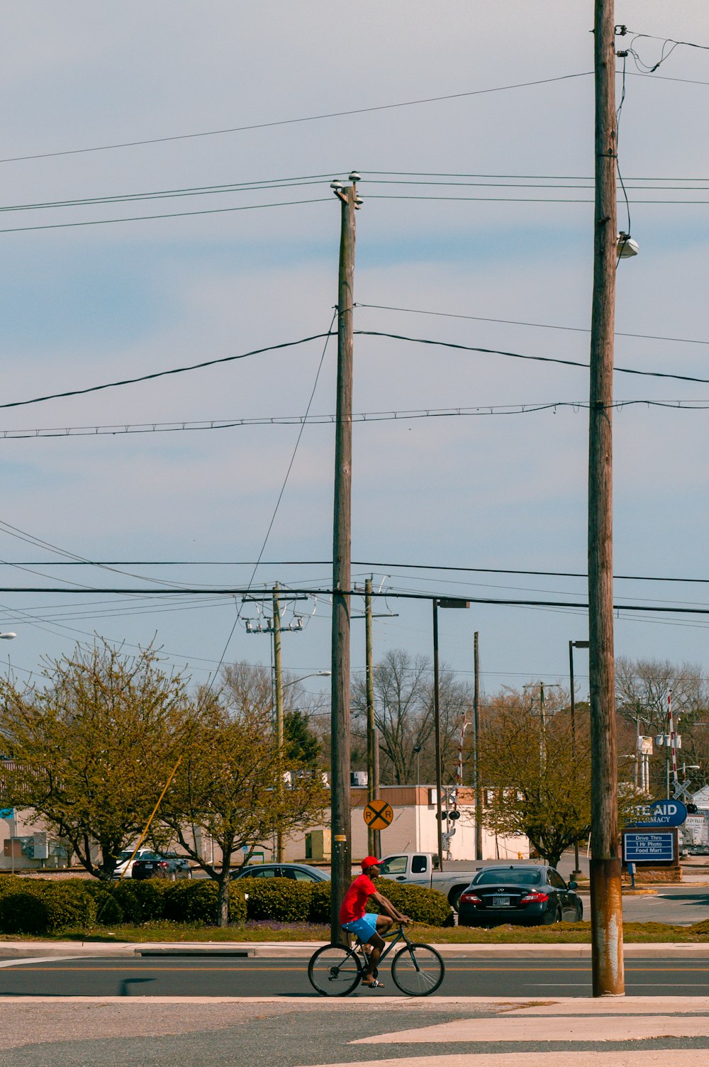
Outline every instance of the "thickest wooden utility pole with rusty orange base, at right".
[[613, 331], [617, 248], [613, 0], [596, 0], [596, 207], [589, 411], [591, 942], [594, 997], [625, 993], [613, 653]]

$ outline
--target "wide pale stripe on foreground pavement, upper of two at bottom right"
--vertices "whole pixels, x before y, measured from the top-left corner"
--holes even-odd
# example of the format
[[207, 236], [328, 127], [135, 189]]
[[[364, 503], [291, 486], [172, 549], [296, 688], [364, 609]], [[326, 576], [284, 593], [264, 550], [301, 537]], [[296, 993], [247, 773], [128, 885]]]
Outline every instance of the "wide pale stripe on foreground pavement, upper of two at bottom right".
[[[439, 1041], [632, 1041], [656, 1037], [709, 1037], [707, 1016], [635, 1016], [603, 1019], [583, 1016], [453, 1019], [433, 1026], [360, 1037], [353, 1045], [420, 1045]], [[575, 1054], [576, 1055], [576, 1054]], [[707, 1062], [707, 1052], [704, 1053]]]

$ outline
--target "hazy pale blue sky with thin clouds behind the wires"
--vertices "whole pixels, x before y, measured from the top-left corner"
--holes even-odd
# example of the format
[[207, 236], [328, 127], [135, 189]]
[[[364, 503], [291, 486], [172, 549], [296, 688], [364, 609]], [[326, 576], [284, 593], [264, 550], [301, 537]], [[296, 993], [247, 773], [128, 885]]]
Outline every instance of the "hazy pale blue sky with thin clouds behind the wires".
[[[390, 594], [375, 658], [431, 653], [430, 601], [394, 592], [456, 595], [471, 606], [440, 612], [440, 654], [462, 679], [478, 632], [485, 692], [567, 681], [582, 608], [473, 599], [585, 602], [582, 576], [505, 572], [585, 573], [587, 370], [445, 345], [587, 362], [591, 0], [26, 0], [4, 16], [4, 403], [325, 334], [329, 182], [357, 170], [355, 329], [444, 343], [355, 338], [353, 582]], [[617, 271], [616, 367], [707, 379], [709, 11], [617, 0], [615, 20], [634, 52], [618, 162], [640, 245]], [[648, 74], [665, 38], [705, 47], [665, 46]], [[256, 606], [216, 590], [327, 589], [335, 375], [320, 337], [0, 410], [0, 626], [17, 634], [0, 670], [25, 683], [96, 635], [152, 641], [199, 683], [269, 664]], [[709, 608], [709, 411], [676, 407], [709, 407], [709, 385], [618, 372], [615, 399], [614, 569], [642, 578], [617, 578], [616, 602]], [[324, 420], [277, 421], [308, 410]], [[293, 610], [284, 667], [327, 670], [327, 596]], [[616, 654], [707, 670], [707, 626], [619, 610]], [[575, 667], [583, 695], [583, 651]]]

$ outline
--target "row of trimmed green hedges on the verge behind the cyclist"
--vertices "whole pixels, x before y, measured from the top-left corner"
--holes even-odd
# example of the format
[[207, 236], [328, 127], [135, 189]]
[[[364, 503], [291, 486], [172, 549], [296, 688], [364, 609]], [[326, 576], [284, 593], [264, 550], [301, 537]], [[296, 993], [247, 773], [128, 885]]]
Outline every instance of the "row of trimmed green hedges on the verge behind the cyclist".
[[[442, 926], [448, 901], [437, 890], [382, 879], [378, 888], [415, 922]], [[57, 930], [141, 925], [160, 920], [216, 923], [219, 888], [195, 881], [124, 880], [117, 886], [93, 879], [63, 881], [0, 876], [0, 934], [51, 934]], [[229, 922], [247, 919], [328, 923], [331, 883], [289, 878], [239, 878], [229, 886]], [[369, 910], [376, 910], [370, 907]]]

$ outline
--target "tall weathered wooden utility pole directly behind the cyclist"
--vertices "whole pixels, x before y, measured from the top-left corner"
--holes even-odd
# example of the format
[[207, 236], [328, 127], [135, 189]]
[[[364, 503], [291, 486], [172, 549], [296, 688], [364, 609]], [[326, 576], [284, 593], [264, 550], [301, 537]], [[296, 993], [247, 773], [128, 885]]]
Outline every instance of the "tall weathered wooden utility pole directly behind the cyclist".
[[352, 494], [352, 357], [357, 186], [336, 188], [342, 202], [337, 298], [337, 421], [333, 523], [333, 689], [331, 803], [333, 830], [331, 940], [345, 943], [340, 907], [352, 881], [350, 813], [350, 583]]

